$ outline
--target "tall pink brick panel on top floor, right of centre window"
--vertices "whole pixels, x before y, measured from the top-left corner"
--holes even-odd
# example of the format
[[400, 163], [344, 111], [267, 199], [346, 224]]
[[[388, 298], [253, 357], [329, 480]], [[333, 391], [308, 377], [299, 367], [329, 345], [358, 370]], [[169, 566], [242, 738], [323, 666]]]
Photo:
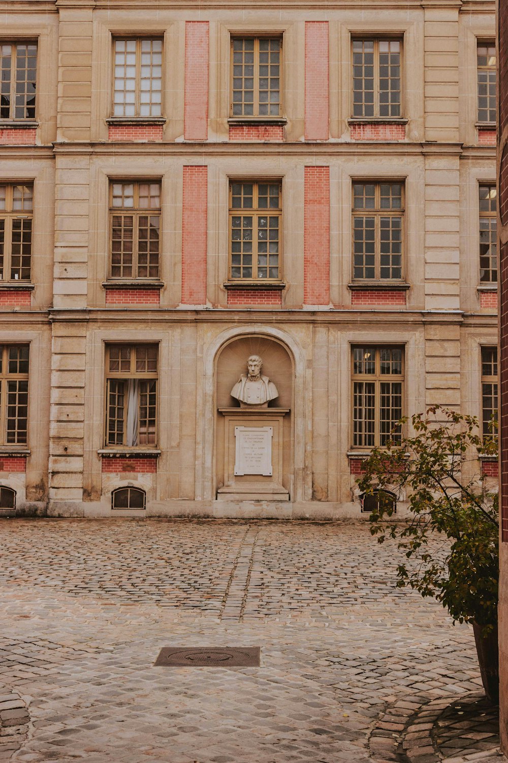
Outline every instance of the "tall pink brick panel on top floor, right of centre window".
[[305, 140], [328, 140], [328, 22], [305, 21]]

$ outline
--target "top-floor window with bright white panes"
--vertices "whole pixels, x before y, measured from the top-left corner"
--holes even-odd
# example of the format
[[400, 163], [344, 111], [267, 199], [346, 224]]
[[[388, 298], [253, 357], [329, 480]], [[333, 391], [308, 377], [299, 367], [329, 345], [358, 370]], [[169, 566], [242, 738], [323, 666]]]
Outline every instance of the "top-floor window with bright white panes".
[[114, 117], [162, 114], [162, 40], [115, 40]]

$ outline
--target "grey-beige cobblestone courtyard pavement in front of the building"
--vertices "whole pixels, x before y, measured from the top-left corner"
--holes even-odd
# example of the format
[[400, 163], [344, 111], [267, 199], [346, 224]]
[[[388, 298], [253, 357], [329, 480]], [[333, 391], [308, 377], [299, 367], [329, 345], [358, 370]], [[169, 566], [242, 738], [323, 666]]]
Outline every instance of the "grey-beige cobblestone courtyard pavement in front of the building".
[[[0, 554], [0, 761], [503, 760], [483, 710], [457, 741], [471, 629], [365, 523], [0, 520]], [[261, 665], [154, 667], [185, 645]]]

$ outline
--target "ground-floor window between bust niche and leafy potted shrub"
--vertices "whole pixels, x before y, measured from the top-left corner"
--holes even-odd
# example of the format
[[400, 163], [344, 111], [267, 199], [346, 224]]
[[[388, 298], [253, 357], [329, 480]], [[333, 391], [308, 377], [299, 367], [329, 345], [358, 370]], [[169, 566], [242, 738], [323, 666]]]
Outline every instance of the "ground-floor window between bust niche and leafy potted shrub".
[[[401, 441], [401, 347], [353, 347], [353, 446], [385, 446]], [[394, 432], [392, 432], [394, 430]]]

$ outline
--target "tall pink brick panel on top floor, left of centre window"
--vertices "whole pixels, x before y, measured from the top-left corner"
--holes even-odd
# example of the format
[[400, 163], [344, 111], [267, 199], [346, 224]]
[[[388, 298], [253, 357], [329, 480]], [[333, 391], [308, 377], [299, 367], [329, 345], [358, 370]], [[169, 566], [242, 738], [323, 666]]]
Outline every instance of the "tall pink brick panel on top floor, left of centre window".
[[208, 137], [208, 21], [185, 23], [185, 140]]

